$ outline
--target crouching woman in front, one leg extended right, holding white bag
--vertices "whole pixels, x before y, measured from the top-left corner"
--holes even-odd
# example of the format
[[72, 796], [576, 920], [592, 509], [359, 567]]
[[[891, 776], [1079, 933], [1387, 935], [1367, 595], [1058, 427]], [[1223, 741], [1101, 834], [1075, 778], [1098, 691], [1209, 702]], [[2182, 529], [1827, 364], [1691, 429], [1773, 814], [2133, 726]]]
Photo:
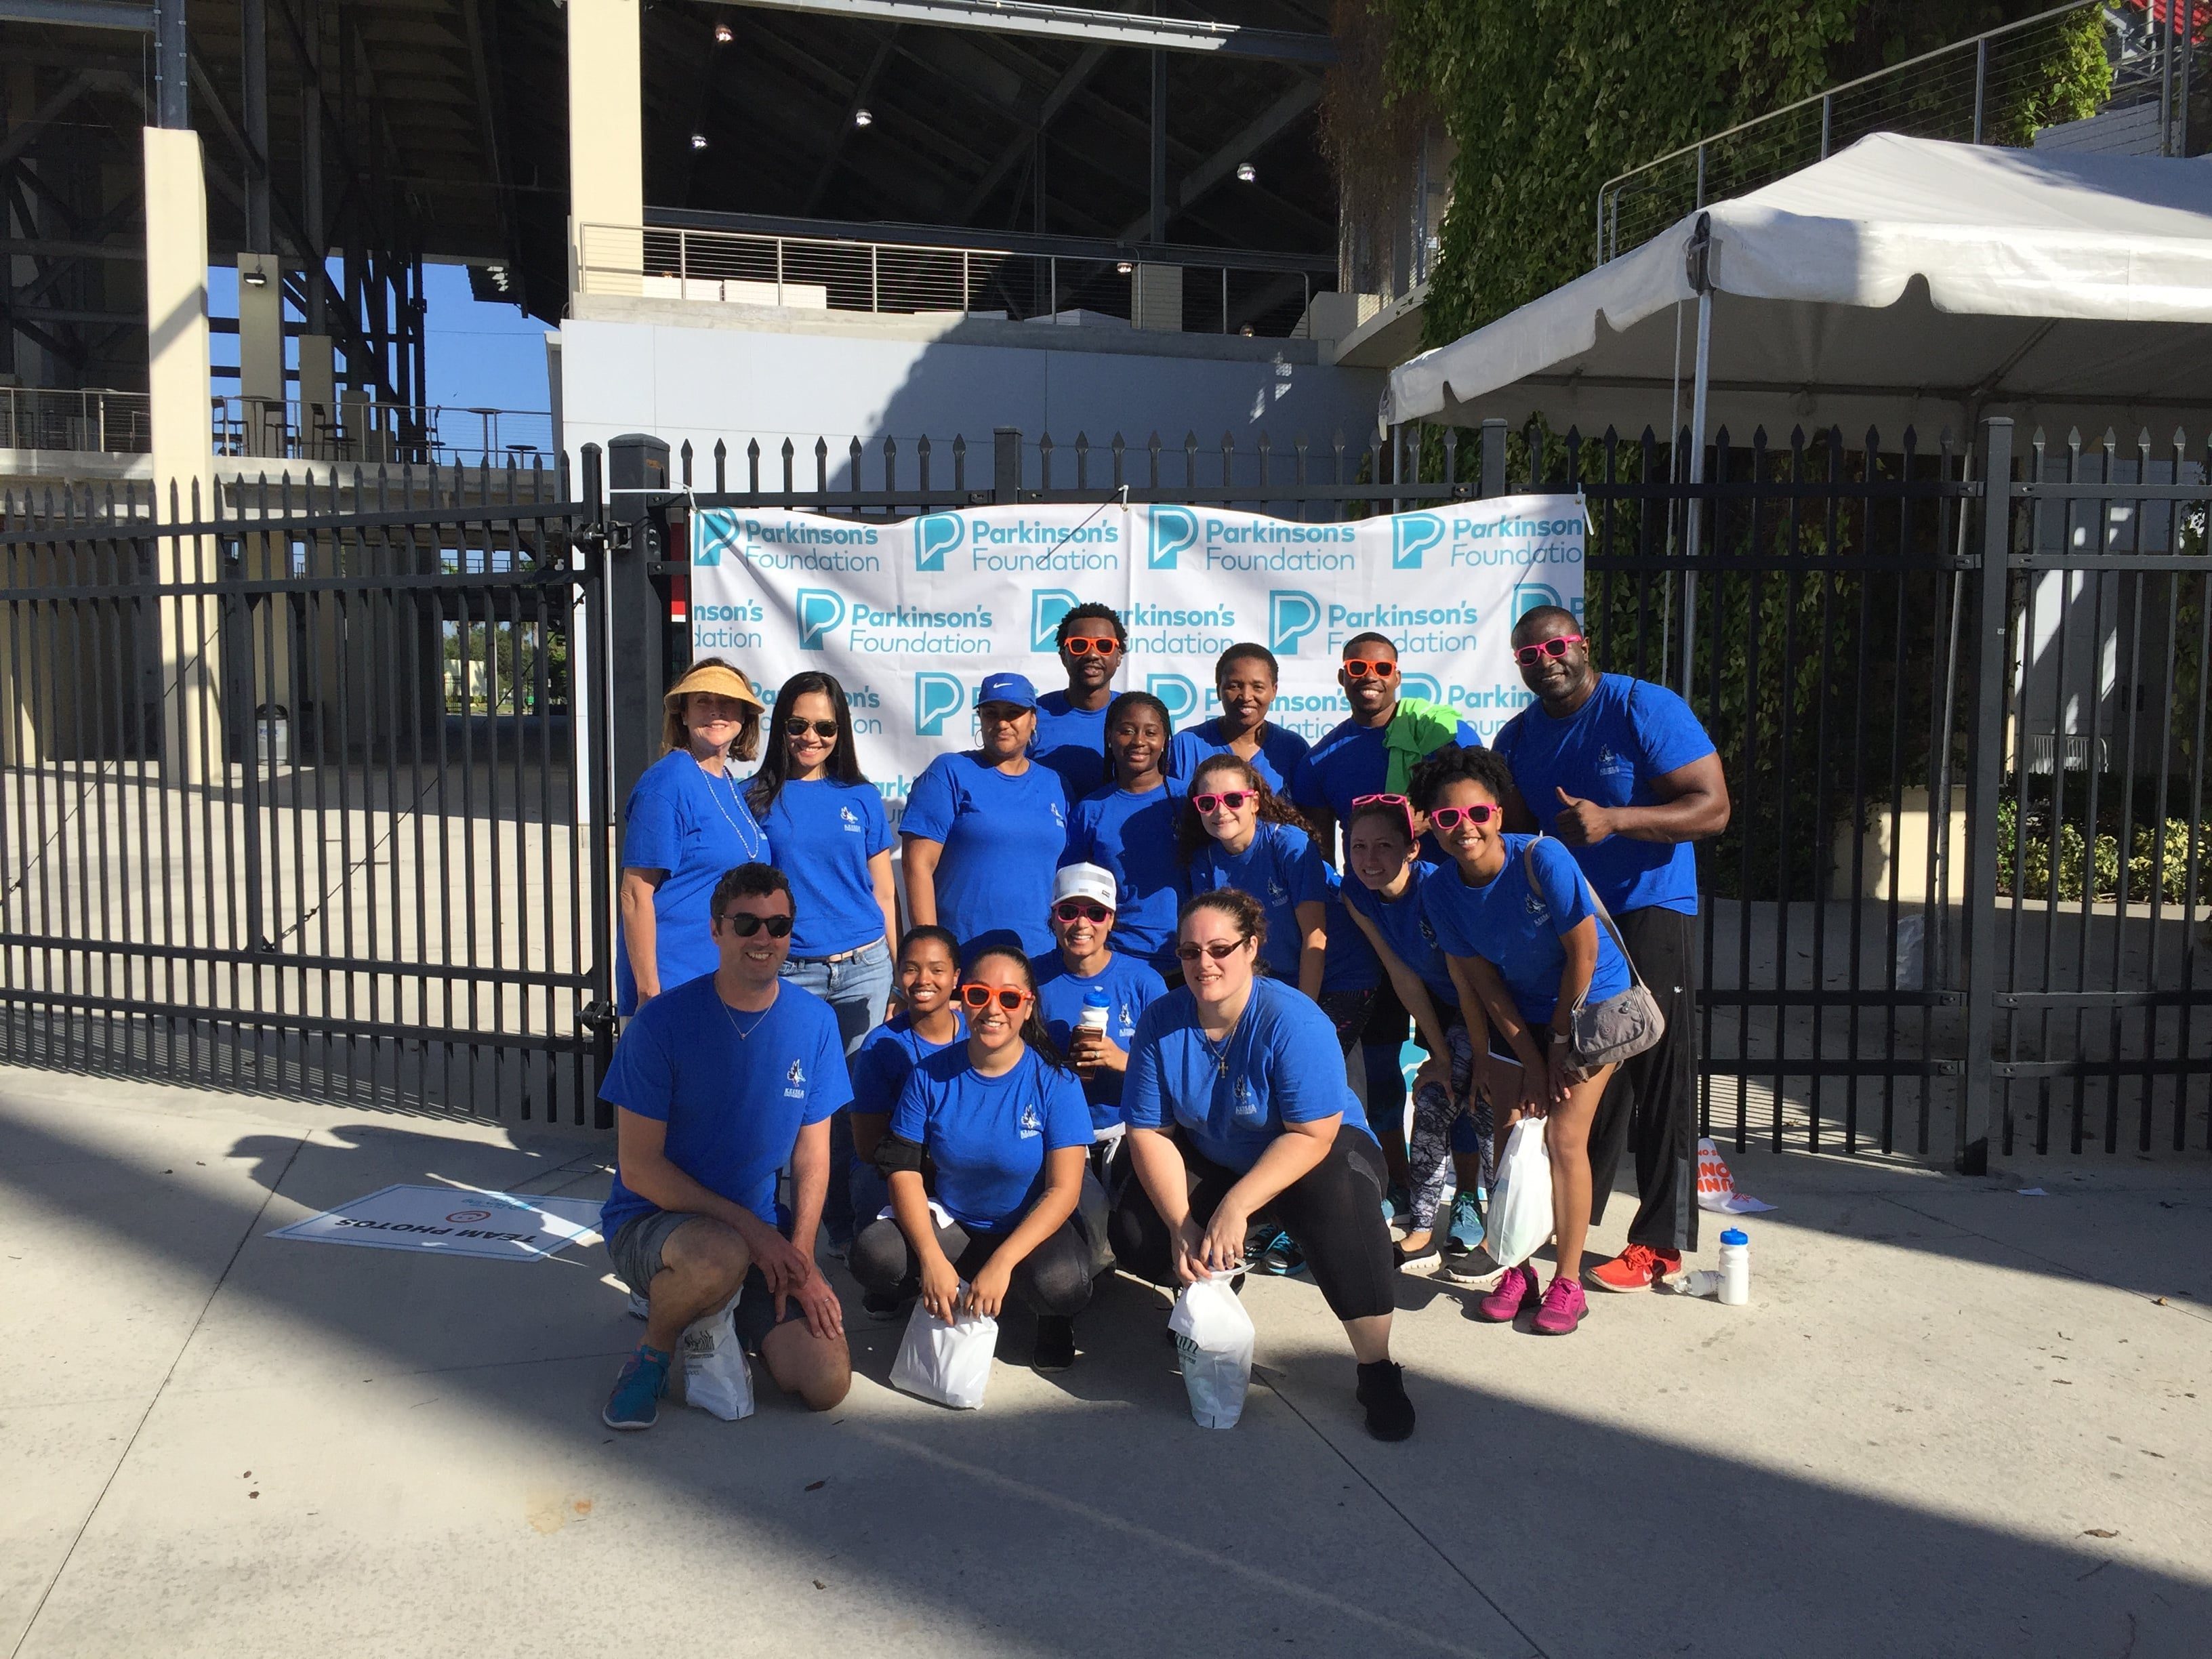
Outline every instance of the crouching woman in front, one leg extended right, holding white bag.
[[1329, 1018], [1254, 978], [1267, 938], [1234, 887], [1183, 905], [1183, 989], [1144, 1011], [1121, 1110], [1137, 1183], [1115, 1212], [1115, 1254], [1155, 1285], [1241, 1272], [1261, 1214], [1305, 1245], [1358, 1360], [1367, 1433], [1405, 1440], [1413, 1402], [1389, 1358], [1396, 1270], [1383, 1225], [1383, 1148], [1345, 1084]]

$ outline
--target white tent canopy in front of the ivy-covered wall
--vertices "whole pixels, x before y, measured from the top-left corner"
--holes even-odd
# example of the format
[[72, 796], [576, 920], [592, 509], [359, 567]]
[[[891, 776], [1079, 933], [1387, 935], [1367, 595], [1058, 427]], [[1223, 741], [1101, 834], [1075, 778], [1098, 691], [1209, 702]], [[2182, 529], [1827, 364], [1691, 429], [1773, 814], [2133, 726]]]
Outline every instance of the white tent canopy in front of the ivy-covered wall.
[[[2163, 442], [2212, 409], [2205, 161], [1876, 133], [1705, 212], [1708, 429], [1739, 442], [1911, 422], [1931, 445], [1982, 414]], [[1688, 422], [1697, 226], [1398, 367], [1383, 422]]]

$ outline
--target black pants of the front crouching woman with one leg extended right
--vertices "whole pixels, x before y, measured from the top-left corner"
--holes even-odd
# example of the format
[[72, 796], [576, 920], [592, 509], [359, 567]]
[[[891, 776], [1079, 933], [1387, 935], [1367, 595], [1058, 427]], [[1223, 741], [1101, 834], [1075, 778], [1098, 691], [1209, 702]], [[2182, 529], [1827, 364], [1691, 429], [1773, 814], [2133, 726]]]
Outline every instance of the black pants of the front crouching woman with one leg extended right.
[[[1190, 1172], [1190, 1214], [1203, 1228], [1243, 1177], [1214, 1164], [1188, 1141], [1181, 1144], [1181, 1152]], [[1383, 1148], [1360, 1130], [1343, 1126], [1327, 1157], [1307, 1170], [1305, 1179], [1283, 1188], [1261, 1212], [1298, 1241], [1321, 1298], [1338, 1318], [1374, 1318], [1394, 1305], [1398, 1270], [1389, 1254], [1389, 1228], [1383, 1225], [1385, 1183]], [[1144, 1181], [1128, 1183], [1108, 1225], [1124, 1272], [1155, 1285], [1177, 1283], [1175, 1237], [1152, 1208]]]

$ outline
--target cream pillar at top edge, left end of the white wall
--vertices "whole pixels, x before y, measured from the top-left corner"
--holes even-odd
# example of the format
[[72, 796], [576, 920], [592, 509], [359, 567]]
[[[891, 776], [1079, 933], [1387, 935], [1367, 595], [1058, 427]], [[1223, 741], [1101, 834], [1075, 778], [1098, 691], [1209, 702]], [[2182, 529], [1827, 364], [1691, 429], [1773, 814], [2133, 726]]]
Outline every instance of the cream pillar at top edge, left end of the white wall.
[[[568, 0], [568, 294], [641, 294], [639, 0]], [[586, 274], [588, 270], [588, 274]]]

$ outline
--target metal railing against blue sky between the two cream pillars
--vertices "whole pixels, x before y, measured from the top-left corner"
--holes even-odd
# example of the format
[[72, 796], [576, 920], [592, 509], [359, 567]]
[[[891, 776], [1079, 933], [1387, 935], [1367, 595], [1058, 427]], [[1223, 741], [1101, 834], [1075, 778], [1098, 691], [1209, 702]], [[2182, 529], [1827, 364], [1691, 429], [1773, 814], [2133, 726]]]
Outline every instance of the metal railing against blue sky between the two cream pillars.
[[394, 462], [416, 467], [518, 467], [553, 462], [546, 409], [407, 407], [338, 398], [274, 403], [215, 398], [215, 453], [274, 460]]

